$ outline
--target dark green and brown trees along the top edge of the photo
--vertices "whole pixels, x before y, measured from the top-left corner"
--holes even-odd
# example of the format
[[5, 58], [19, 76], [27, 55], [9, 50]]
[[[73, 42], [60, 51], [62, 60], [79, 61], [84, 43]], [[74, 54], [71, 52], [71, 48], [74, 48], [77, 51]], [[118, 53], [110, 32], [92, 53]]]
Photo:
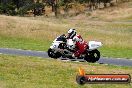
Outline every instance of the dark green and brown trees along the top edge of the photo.
[[[44, 4], [48, 6], [52, 6], [52, 12], [58, 12], [59, 7], [63, 7], [64, 11], [67, 13], [69, 9], [71, 9], [71, 4], [84, 4], [89, 6], [89, 8], [94, 8], [99, 6], [99, 2], [104, 3], [104, 7], [106, 7], [106, 2], [110, 3], [113, 0], [37, 0], [37, 3], [34, 0], [0, 0], [0, 14], [7, 15], [24, 15], [29, 10], [33, 10], [34, 8], [44, 8]], [[118, 2], [126, 2], [130, 0], [118, 0]], [[90, 3], [92, 2], [92, 3]], [[81, 6], [81, 5], [80, 5]], [[34, 13], [35, 14], [35, 13]]]

